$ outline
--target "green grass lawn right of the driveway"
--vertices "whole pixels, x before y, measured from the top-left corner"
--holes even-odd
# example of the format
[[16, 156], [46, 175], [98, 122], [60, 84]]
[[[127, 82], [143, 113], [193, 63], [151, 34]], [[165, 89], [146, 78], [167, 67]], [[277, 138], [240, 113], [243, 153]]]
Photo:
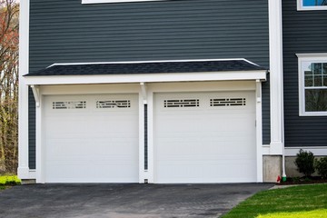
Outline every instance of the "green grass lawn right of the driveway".
[[[240, 203], [223, 218], [282, 217], [327, 217], [325, 216], [300, 216], [299, 213], [321, 210], [326, 214], [327, 209], [327, 184], [300, 185], [284, 189], [275, 189], [256, 193], [249, 199]], [[271, 214], [269, 214], [271, 213]], [[270, 216], [268, 216], [268, 214]], [[267, 215], [267, 216], [263, 216]], [[274, 215], [274, 216], [273, 216]], [[318, 215], [320, 215], [318, 213]]]

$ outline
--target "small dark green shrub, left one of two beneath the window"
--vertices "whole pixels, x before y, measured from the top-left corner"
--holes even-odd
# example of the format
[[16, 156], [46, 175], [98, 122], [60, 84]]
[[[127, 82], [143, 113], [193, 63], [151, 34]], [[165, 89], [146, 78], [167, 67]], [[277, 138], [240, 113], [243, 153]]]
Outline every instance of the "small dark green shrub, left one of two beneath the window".
[[312, 173], [314, 173], [314, 156], [312, 152], [300, 149], [299, 153], [296, 154], [294, 163], [297, 166], [297, 170], [306, 177], [311, 177]]

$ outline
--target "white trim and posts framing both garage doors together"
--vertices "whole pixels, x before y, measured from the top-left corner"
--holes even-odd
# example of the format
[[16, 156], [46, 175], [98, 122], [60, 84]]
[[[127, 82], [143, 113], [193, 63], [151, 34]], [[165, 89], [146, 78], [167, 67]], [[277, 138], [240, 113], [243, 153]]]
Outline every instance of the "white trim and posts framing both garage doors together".
[[[257, 182], [263, 182], [261, 81], [225, 81], [196, 83], [42, 85], [36, 87], [36, 183], [45, 183], [43, 149], [43, 99], [49, 94], [138, 94], [139, 95], [139, 183], [154, 183], [154, 93], [216, 92], [253, 90], [256, 94]], [[35, 92], [37, 91], [37, 92]], [[36, 103], [37, 103], [36, 102]], [[148, 107], [148, 170], [144, 170], [144, 104]]]

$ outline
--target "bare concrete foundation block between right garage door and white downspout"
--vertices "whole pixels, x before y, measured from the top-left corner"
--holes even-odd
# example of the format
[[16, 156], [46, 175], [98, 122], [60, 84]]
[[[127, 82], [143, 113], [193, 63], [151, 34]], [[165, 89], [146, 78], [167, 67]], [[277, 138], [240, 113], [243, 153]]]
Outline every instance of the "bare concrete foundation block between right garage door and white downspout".
[[282, 177], [282, 156], [263, 155], [263, 182], [276, 183], [279, 175]]

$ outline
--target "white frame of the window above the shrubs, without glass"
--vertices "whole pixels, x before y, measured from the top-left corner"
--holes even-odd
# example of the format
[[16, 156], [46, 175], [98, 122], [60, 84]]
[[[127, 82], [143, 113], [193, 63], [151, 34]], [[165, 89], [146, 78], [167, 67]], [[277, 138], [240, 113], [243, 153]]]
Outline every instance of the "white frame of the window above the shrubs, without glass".
[[305, 111], [305, 86], [304, 86], [304, 70], [303, 62], [326, 63], [327, 53], [323, 54], [296, 54], [298, 56], [299, 71], [299, 115], [300, 116], [327, 116], [326, 112], [306, 112]]

